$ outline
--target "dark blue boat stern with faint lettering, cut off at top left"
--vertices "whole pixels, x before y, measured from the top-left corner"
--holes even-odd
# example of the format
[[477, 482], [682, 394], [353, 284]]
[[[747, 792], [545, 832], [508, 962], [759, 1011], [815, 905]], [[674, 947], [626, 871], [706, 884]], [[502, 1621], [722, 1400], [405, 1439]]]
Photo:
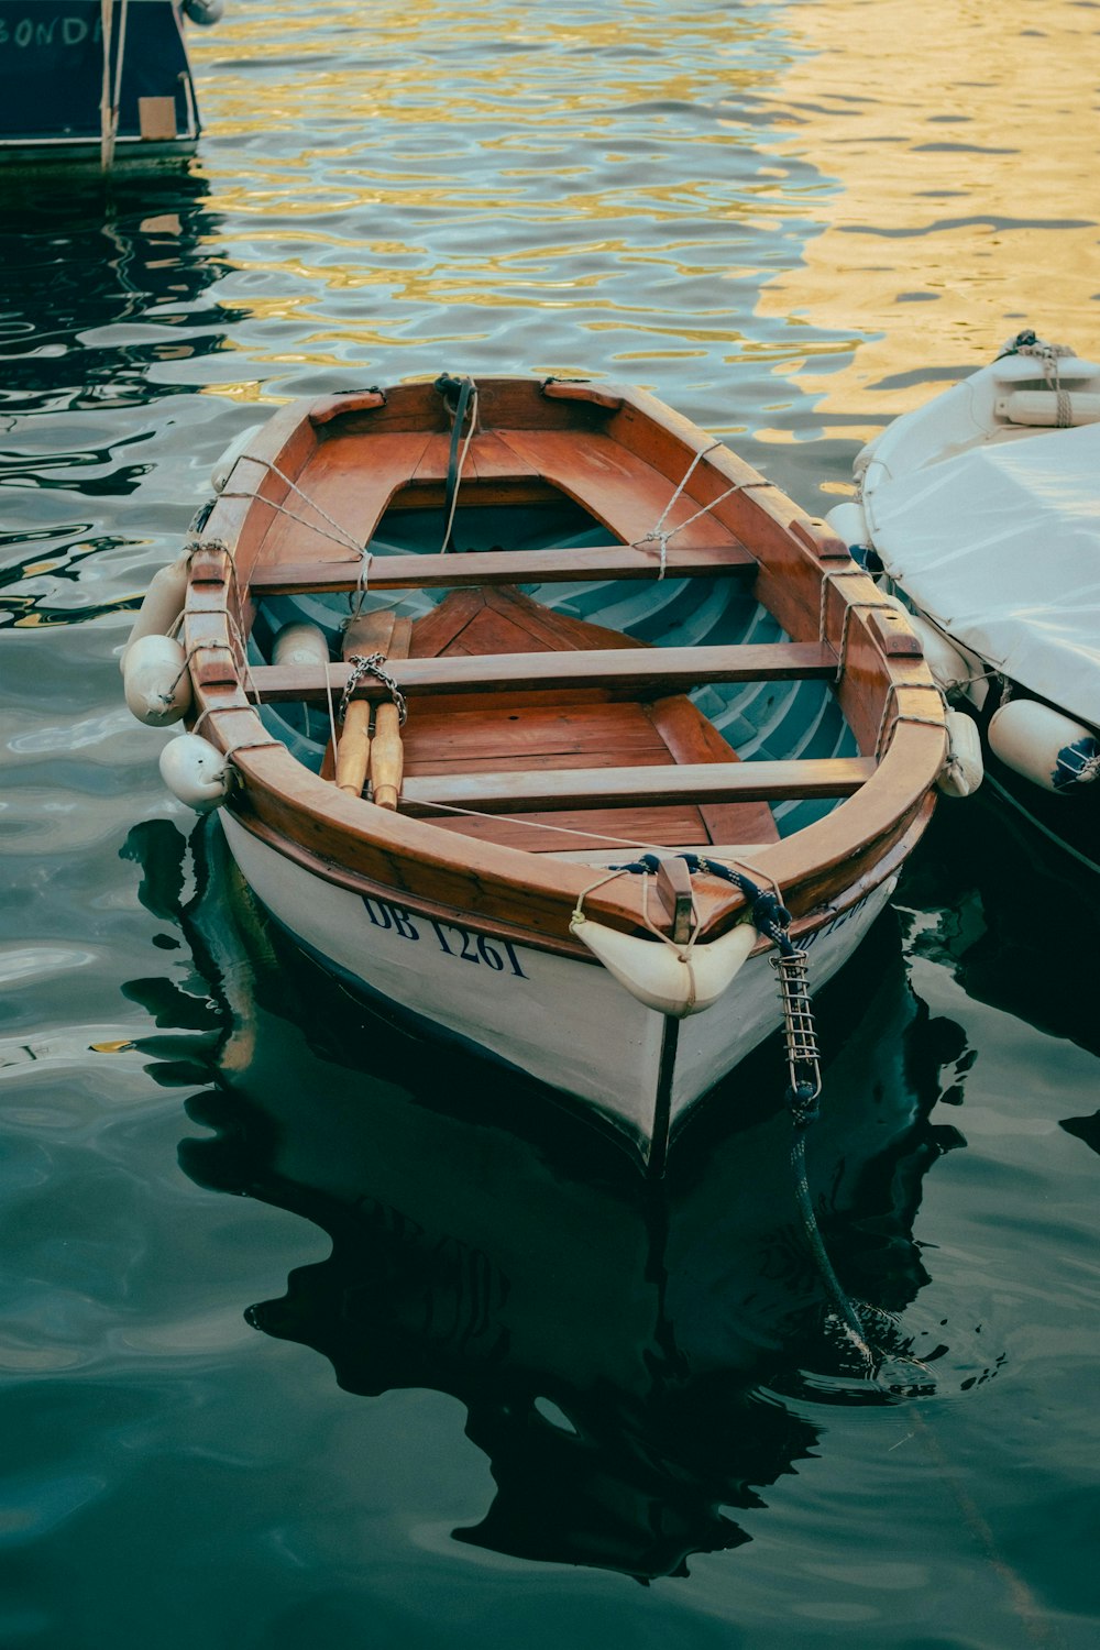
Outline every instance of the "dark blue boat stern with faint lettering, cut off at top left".
[[200, 134], [183, 18], [223, 0], [0, 0], [0, 173], [150, 167]]

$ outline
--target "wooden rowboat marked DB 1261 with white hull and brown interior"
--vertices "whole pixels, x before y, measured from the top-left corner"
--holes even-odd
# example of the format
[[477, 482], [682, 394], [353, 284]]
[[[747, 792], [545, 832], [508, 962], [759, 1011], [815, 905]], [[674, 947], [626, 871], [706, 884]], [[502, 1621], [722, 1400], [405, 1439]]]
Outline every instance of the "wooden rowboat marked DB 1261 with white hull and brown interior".
[[287, 406], [178, 576], [198, 766], [218, 795], [233, 776], [262, 903], [651, 1158], [780, 1023], [754, 889], [820, 983], [932, 810], [943, 711], [905, 619], [637, 391], [442, 378]]

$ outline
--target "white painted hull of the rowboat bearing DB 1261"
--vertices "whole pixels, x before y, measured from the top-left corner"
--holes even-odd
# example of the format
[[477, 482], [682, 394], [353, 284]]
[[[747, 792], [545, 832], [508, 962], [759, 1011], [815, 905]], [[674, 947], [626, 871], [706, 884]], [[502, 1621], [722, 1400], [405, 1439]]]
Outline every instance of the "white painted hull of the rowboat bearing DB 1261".
[[[770, 950], [754, 952], [706, 1013], [670, 1021], [599, 964], [356, 894], [219, 818], [242, 876], [305, 947], [404, 1015], [587, 1101], [646, 1152], [780, 1023]], [[892, 886], [808, 936], [811, 987], [848, 960]]]

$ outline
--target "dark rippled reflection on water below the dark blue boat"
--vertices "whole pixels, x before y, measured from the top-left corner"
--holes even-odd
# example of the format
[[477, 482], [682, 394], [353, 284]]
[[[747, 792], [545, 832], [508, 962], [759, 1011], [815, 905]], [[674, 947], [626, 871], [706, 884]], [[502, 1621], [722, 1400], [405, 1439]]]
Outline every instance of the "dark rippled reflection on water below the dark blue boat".
[[[190, 380], [157, 370], [226, 348], [244, 314], [203, 297], [233, 267], [211, 251], [218, 231], [206, 180], [188, 168], [0, 177], [0, 497], [5, 487], [63, 495], [41, 526], [0, 531], [0, 629], [86, 624], [120, 606], [51, 596], [122, 543], [97, 531], [101, 500], [140, 487], [157, 434], [127, 409], [193, 394]], [[124, 416], [66, 416], [91, 409]], [[48, 436], [36, 422], [10, 434], [46, 412]], [[86, 446], [92, 429], [102, 446]], [[48, 587], [18, 589], [26, 581]]]

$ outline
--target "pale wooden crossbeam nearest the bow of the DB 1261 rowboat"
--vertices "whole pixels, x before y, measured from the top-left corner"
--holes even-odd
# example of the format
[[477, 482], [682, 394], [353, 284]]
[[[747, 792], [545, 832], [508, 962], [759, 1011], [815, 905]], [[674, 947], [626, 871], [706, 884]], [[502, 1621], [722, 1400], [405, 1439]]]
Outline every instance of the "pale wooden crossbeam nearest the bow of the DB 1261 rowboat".
[[803, 762], [696, 762], [666, 767], [524, 769], [498, 774], [432, 774], [406, 779], [404, 813], [432, 813], [430, 804], [478, 813], [544, 813], [581, 807], [635, 807], [676, 802], [785, 802], [792, 797], [849, 797], [871, 779], [872, 757], [818, 757]]

